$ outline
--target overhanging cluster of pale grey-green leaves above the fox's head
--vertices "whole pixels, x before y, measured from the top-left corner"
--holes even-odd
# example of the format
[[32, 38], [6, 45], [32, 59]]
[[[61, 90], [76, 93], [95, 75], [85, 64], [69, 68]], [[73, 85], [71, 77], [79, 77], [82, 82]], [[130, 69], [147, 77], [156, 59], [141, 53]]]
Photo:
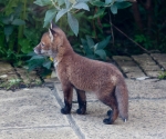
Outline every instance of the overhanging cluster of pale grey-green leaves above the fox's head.
[[66, 14], [68, 17], [68, 24], [70, 26], [71, 30], [74, 32], [75, 36], [79, 33], [79, 21], [75, 18], [77, 11], [85, 10], [90, 11], [89, 3], [94, 7], [103, 7], [102, 11], [98, 11], [94, 18], [97, 18], [104, 13], [104, 10], [110, 7], [113, 13], [117, 13], [117, 9], [124, 9], [129, 7], [131, 3], [124, 2], [123, 0], [106, 0], [102, 2], [101, 0], [35, 0], [34, 3], [41, 7], [49, 6], [49, 9], [45, 13], [44, 18], [44, 27], [49, 24], [49, 22], [55, 19], [58, 22], [62, 17]]

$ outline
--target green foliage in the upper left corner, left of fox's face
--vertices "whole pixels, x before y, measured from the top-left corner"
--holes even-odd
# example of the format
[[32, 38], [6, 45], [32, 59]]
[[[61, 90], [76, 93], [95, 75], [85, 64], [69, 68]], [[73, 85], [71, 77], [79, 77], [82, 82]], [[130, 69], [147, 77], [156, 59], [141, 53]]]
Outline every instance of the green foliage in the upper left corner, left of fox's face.
[[43, 29], [33, 28], [33, 24], [39, 22], [35, 16], [31, 16], [34, 14], [32, 8], [35, 7], [33, 0], [0, 1], [1, 59], [9, 60], [14, 66], [21, 66], [27, 59], [27, 53], [32, 51], [39, 42]]

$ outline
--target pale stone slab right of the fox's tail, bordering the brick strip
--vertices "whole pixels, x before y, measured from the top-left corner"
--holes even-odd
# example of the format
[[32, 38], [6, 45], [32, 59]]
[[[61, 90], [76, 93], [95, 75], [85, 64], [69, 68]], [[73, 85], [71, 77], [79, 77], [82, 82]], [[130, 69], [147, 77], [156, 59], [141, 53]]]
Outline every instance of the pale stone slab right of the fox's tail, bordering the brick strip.
[[131, 80], [126, 79], [131, 99], [165, 99], [166, 80], [147, 79]]

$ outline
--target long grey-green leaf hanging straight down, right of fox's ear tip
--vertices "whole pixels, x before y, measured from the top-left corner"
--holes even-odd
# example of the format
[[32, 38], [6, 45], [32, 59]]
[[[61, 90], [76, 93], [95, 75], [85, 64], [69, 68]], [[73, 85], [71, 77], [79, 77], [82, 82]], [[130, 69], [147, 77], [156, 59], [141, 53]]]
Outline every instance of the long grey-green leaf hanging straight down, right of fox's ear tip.
[[72, 31], [75, 33], [75, 36], [77, 36], [77, 33], [79, 33], [79, 22], [77, 22], [77, 19], [75, 19], [75, 17], [73, 17], [70, 12], [68, 12], [68, 22], [69, 22], [70, 28], [72, 29]]

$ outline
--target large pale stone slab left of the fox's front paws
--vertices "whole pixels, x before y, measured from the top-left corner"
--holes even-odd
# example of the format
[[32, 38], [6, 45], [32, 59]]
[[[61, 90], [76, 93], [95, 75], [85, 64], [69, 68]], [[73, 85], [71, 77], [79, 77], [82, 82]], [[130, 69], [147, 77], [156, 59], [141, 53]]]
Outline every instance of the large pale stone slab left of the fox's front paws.
[[0, 130], [45, 126], [69, 126], [49, 88], [0, 90]]

